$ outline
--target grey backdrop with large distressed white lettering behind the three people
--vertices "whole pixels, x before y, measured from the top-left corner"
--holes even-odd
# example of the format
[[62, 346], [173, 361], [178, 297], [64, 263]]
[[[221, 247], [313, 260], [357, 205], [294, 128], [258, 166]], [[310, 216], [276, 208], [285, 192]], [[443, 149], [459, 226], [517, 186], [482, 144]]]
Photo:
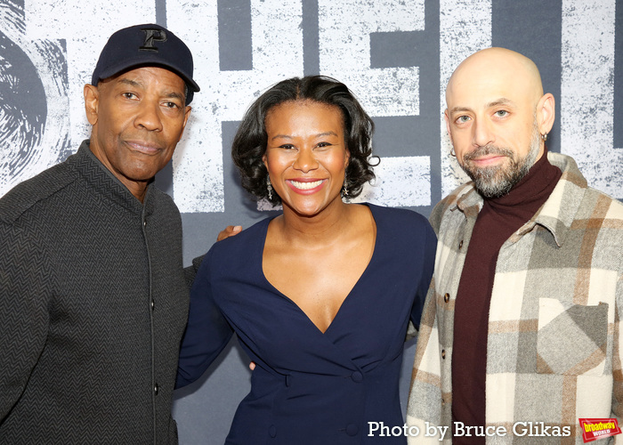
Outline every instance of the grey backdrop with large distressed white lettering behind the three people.
[[[195, 56], [187, 132], [158, 174], [182, 212], [186, 263], [225, 225], [269, 214], [233, 171], [229, 146], [248, 105], [281, 79], [342, 80], [374, 117], [376, 183], [361, 199], [429, 214], [465, 181], [445, 134], [443, 90], [467, 55], [491, 45], [526, 54], [556, 97], [550, 150], [623, 198], [623, 3], [615, 0], [0, 0], [0, 195], [67, 158], [89, 134], [82, 98], [108, 36], [158, 22]], [[414, 344], [407, 345], [406, 397]], [[221, 444], [249, 389], [232, 342], [177, 392], [182, 444]]]

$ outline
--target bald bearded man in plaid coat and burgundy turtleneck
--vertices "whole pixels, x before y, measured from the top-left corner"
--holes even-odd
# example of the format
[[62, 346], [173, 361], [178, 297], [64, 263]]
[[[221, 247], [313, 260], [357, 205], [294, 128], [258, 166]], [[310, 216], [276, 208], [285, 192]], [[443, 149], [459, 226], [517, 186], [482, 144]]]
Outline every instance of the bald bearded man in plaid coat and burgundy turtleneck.
[[547, 152], [554, 96], [522, 54], [468, 57], [446, 102], [473, 181], [431, 214], [409, 443], [583, 443], [579, 418], [623, 414], [623, 205]]

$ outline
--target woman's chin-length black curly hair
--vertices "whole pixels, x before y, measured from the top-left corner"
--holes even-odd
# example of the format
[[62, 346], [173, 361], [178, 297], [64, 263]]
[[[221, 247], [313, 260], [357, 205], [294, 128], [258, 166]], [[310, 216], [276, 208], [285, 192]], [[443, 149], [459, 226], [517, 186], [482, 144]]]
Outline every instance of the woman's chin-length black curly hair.
[[346, 167], [346, 187], [349, 197], [359, 196], [363, 184], [375, 178], [369, 162], [374, 123], [346, 85], [325, 76], [283, 80], [247, 109], [231, 146], [231, 157], [239, 168], [242, 187], [255, 198], [266, 198], [273, 205], [281, 202], [274, 190], [272, 198], [268, 198], [268, 171], [262, 158], [268, 142], [266, 115], [273, 107], [287, 101], [315, 101], [342, 111], [344, 142], [351, 155]]

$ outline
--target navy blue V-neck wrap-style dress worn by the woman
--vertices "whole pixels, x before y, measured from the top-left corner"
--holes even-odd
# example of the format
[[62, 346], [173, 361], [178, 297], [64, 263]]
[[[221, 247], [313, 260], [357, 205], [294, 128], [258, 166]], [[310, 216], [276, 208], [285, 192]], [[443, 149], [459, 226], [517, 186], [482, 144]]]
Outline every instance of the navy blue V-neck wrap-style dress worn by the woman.
[[201, 263], [177, 386], [197, 380], [233, 332], [257, 365], [226, 443], [406, 443], [404, 436], [368, 436], [368, 422], [404, 425], [403, 344], [409, 318], [419, 325], [436, 237], [421, 214], [368, 206], [374, 253], [324, 334], [263, 275], [270, 219], [214, 244]]

